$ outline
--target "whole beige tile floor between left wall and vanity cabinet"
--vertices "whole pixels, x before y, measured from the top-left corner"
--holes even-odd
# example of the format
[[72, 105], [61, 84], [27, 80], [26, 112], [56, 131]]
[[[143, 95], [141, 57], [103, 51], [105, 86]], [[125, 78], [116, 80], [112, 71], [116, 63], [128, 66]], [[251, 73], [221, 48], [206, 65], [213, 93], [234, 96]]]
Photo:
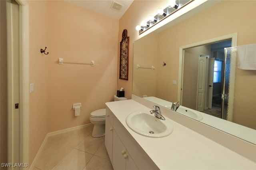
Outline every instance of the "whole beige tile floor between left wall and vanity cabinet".
[[105, 137], [93, 138], [92, 129], [49, 136], [34, 170], [113, 170]]

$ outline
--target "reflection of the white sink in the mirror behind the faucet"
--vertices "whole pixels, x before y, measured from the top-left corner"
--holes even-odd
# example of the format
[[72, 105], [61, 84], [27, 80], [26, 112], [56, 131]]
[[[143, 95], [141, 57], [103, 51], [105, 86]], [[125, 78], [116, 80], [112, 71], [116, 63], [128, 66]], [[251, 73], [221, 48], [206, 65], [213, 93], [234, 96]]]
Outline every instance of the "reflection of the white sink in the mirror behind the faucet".
[[[171, 106], [172, 105], [166, 105], [164, 107], [168, 108], [168, 109], [171, 109]], [[187, 107], [183, 107], [183, 106], [180, 106], [176, 112], [182, 114], [182, 115], [185, 115], [187, 117], [190, 117], [192, 119], [195, 119], [197, 121], [200, 121], [203, 119], [202, 115], [198, 112], [198, 111], [195, 111], [193, 109], [188, 109]]]

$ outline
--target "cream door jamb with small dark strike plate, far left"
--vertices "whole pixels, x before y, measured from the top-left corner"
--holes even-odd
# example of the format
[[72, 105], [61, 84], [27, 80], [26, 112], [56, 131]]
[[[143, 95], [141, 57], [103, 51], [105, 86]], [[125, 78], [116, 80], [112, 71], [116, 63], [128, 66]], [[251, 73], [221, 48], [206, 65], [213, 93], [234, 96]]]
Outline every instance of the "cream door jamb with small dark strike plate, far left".
[[8, 64], [8, 162], [20, 163], [19, 5], [6, 1]]

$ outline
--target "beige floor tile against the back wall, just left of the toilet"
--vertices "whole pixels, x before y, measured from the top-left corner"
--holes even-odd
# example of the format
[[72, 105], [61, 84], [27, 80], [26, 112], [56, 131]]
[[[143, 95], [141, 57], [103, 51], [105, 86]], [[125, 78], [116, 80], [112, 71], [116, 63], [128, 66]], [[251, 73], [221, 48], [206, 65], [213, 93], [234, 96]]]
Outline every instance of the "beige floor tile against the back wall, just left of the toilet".
[[92, 134], [93, 126], [85, 127], [78, 130], [72, 130], [62, 134], [49, 136], [48, 140], [55, 140], [70, 147], [76, 147], [84, 138]]

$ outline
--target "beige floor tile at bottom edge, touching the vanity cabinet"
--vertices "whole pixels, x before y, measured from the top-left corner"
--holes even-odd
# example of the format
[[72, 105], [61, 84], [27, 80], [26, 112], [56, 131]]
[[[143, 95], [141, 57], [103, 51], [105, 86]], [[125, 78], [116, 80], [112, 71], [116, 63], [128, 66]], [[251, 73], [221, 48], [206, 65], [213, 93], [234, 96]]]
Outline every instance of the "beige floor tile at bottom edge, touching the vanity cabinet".
[[93, 156], [83, 170], [113, 170], [110, 160]]

